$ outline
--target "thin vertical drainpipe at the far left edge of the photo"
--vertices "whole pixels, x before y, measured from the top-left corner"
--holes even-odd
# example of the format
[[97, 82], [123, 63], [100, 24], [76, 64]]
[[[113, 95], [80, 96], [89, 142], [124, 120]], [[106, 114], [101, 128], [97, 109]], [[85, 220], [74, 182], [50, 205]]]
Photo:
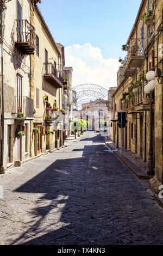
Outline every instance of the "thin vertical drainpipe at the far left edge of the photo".
[[1, 170], [4, 173], [4, 74], [3, 74], [3, 11], [1, 10], [1, 83], [2, 83], [2, 113], [1, 113]]

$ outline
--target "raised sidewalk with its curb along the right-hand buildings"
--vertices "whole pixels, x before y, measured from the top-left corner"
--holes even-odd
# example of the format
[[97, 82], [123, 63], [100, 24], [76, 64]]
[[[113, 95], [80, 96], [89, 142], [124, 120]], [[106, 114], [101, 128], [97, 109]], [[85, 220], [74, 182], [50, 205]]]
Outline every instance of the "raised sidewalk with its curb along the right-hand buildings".
[[143, 159], [128, 151], [123, 149], [123, 155], [121, 154], [121, 148], [116, 148], [116, 144], [112, 141], [106, 141], [105, 144], [113, 151], [113, 153], [137, 176], [139, 179], [151, 179], [154, 175], [147, 175], [148, 164], [143, 162]]

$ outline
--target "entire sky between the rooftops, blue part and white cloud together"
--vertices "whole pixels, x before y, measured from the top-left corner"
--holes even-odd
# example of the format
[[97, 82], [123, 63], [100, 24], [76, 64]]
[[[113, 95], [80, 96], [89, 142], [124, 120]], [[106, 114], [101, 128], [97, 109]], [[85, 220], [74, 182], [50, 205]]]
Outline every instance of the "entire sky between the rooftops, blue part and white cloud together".
[[55, 42], [65, 46], [72, 85], [116, 87], [118, 58], [134, 25], [141, 0], [42, 0], [37, 4]]

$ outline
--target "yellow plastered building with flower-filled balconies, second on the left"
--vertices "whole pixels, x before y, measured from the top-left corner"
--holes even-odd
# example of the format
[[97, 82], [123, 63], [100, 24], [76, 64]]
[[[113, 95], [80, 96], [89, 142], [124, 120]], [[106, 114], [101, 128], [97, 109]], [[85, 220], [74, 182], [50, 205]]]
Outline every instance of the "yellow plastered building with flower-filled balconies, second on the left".
[[[36, 51], [31, 69], [34, 76], [34, 122], [31, 156], [62, 145], [62, 56], [39, 8], [34, 5]], [[58, 112], [59, 111], [59, 112]], [[39, 130], [39, 132], [37, 132]]]

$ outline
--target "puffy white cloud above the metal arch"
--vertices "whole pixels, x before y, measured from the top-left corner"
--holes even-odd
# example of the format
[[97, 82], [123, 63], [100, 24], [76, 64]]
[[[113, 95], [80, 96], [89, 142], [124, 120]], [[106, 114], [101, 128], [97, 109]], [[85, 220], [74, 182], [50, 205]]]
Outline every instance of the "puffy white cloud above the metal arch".
[[65, 47], [66, 66], [73, 67], [73, 87], [84, 83], [98, 84], [106, 89], [116, 87], [117, 58], [104, 59], [98, 47], [87, 43]]

